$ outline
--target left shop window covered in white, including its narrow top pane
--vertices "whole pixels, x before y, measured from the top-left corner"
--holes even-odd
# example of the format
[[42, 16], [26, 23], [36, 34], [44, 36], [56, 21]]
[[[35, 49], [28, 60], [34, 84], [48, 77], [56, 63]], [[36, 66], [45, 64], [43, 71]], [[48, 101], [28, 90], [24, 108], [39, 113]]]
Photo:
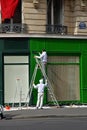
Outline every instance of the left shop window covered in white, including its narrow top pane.
[[4, 56], [4, 103], [28, 103], [29, 57]]

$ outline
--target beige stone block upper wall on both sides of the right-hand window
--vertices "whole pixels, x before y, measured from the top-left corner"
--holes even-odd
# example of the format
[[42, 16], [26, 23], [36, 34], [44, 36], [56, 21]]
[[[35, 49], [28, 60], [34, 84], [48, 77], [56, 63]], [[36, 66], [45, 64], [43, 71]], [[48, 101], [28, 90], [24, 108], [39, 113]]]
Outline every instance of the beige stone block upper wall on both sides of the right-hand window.
[[[38, 2], [35, 8], [34, 1]], [[87, 29], [79, 29], [80, 22], [87, 24], [87, 1], [64, 0], [64, 25], [68, 27], [70, 35], [86, 35]], [[22, 23], [26, 24], [27, 33], [46, 33], [47, 24], [47, 0], [23, 0], [22, 1]]]

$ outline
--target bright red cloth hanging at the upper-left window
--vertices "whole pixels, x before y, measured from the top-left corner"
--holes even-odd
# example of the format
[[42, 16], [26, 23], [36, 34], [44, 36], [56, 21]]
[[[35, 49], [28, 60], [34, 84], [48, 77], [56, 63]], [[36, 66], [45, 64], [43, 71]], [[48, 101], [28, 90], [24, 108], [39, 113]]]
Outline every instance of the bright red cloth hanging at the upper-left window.
[[1, 0], [2, 19], [10, 19], [14, 16], [19, 0]]

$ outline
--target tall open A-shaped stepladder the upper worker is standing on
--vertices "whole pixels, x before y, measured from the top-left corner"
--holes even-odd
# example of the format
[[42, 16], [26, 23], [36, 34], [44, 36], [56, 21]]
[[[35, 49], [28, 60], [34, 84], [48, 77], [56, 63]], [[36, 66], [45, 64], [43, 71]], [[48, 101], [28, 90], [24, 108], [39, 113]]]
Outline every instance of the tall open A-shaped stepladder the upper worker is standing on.
[[[32, 75], [32, 79], [31, 79], [30, 87], [29, 87], [29, 92], [28, 92], [28, 95], [27, 95], [27, 98], [29, 97], [29, 102], [30, 102], [31, 94], [32, 94], [32, 90], [33, 90], [33, 83], [35, 81], [36, 73], [37, 73], [37, 70], [38, 70], [38, 67], [39, 67], [39, 69], [42, 72], [42, 75], [44, 76], [44, 79], [47, 79], [47, 82], [48, 82], [47, 88], [48, 88], [48, 93], [50, 95], [50, 98], [52, 99], [53, 104], [55, 106], [59, 107], [59, 103], [58, 103], [58, 101], [55, 97], [54, 90], [52, 88], [51, 82], [49, 81], [49, 78], [46, 75], [43, 63], [38, 58], [35, 58], [35, 60], [36, 60], [36, 66], [35, 66], [35, 69], [34, 69], [34, 72], [33, 72], [33, 75]], [[26, 98], [26, 100], [27, 100], [27, 98]]]

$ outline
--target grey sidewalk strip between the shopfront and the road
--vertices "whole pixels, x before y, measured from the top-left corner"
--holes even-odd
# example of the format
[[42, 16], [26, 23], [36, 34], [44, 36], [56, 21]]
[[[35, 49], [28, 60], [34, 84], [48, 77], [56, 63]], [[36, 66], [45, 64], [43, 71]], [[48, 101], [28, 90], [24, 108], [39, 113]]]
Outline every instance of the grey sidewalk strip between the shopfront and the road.
[[87, 117], [87, 106], [62, 106], [62, 107], [35, 107], [11, 108], [4, 110], [5, 119], [27, 119], [47, 117]]

